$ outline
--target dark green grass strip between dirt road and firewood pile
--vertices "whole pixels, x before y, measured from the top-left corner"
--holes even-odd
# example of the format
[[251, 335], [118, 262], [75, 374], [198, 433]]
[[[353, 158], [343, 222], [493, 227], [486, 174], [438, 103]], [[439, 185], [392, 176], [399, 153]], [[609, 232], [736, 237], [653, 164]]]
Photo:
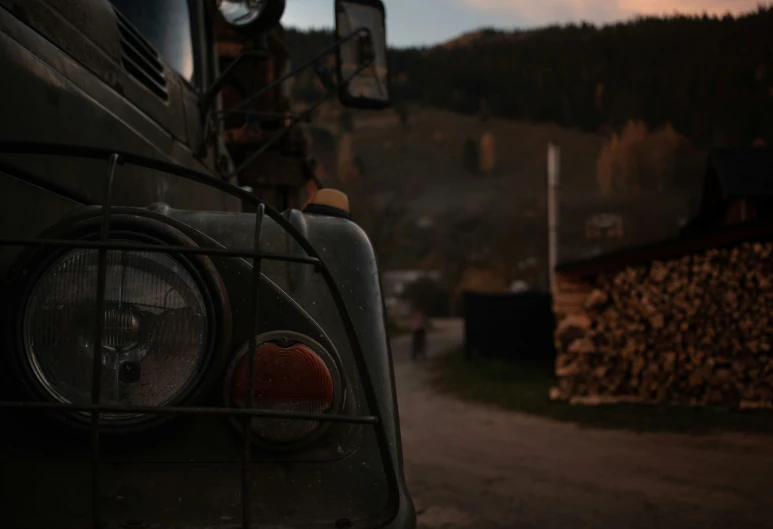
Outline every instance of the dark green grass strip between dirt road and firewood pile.
[[743, 432], [773, 435], [773, 411], [692, 408], [644, 404], [570, 405], [548, 398], [552, 366], [523, 361], [470, 360], [455, 350], [431, 364], [439, 389], [465, 400], [490, 404], [580, 427], [639, 432]]

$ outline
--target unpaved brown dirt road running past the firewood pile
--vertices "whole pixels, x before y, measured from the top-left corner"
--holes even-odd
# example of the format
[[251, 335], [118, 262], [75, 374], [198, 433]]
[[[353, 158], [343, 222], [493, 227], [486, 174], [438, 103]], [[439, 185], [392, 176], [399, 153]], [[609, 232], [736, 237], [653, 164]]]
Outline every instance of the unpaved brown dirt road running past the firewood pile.
[[[430, 356], [461, 340], [450, 322]], [[773, 528], [773, 439], [580, 429], [437, 394], [393, 341], [421, 528]]]

